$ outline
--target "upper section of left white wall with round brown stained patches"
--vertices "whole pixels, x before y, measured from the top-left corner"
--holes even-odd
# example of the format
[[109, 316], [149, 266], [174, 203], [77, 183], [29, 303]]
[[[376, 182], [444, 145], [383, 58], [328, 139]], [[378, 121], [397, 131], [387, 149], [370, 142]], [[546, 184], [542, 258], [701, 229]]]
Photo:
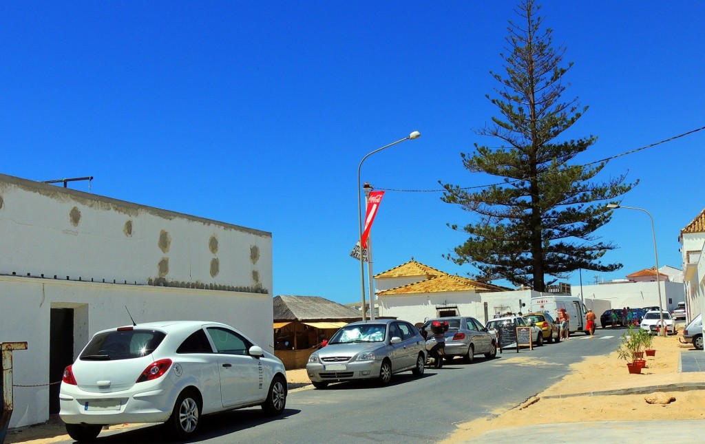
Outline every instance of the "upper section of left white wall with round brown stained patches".
[[272, 294], [264, 231], [0, 175], [0, 233], [1, 274]]

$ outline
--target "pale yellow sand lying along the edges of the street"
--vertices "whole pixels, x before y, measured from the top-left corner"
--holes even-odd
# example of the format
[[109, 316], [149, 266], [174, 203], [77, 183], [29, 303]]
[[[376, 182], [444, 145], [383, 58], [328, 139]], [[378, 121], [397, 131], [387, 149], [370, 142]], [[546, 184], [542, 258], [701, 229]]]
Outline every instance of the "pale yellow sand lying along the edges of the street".
[[[622, 334], [617, 329], [615, 333]], [[598, 330], [598, 335], [611, 333], [610, 329]], [[578, 335], [572, 340], [582, 340]], [[589, 340], [589, 339], [585, 339]], [[594, 340], [599, 340], [595, 338]], [[570, 341], [559, 347], [570, 346]], [[539, 393], [522, 405], [505, 405], [491, 412], [486, 418], [458, 424], [458, 430], [443, 443], [471, 440], [473, 436], [497, 428], [529, 424], [560, 424], [576, 421], [632, 421], [648, 419], [705, 419], [705, 390], [656, 392], [649, 395], [596, 395], [594, 392], [623, 390], [647, 386], [664, 386], [674, 383], [705, 383], [704, 373], [678, 373], [680, 352], [695, 352], [692, 345], [682, 345], [677, 336], [654, 338], [655, 357], [646, 357], [646, 369], [632, 375], [625, 361], [616, 352], [607, 357], [589, 357], [573, 364], [571, 373], [558, 383]], [[501, 359], [501, 365], [548, 365], [539, 359], [520, 356]], [[305, 369], [287, 371], [289, 390], [312, 388]], [[667, 404], [649, 404], [646, 398], [673, 399]], [[111, 426], [111, 430], [130, 428], [133, 424]], [[68, 439], [58, 418], [46, 424], [8, 431], [5, 443], [49, 444]]]

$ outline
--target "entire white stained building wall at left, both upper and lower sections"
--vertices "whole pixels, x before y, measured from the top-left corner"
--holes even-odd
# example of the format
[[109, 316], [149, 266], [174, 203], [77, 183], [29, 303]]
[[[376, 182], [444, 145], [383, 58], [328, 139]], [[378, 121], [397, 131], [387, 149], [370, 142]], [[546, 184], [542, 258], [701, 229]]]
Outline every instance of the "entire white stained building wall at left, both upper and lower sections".
[[[47, 384], [52, 308], [73, 309], [74, 357], [103, 328], [221, 321], [273, 350], [271, 233], [0, 175], [0, 342], [15, 383]], [[55, 277], [56, 276], [56, 277]], [[10, 427], [49, 418], [16, 388]]]

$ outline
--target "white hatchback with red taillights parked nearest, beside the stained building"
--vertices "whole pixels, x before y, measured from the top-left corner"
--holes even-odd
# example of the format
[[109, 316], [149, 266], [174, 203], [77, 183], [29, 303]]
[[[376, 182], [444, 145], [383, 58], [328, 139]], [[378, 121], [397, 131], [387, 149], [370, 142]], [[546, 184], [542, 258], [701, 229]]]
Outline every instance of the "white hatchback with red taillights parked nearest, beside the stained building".
[[140, 323], [99, 331], [66, 367], [59, 416], [69, 436], [93, 440], [110, 424], [166, 422], [190, 439], [200, 415], [286, 405], [282, 362], [223, 323]]

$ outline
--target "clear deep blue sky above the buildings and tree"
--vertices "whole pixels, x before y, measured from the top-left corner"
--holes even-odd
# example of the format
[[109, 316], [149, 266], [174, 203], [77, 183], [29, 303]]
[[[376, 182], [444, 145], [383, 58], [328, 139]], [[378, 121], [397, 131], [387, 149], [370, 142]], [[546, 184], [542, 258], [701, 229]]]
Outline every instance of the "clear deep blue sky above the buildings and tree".
[[[94, 176], [90, 192], [273, 233], [274, 294], [359, 302], [357, 166], [388, 191], [374, 271], [412, 257], [448, 273], [474, 217], [439, 180], [462, 168], [501, 72], [511, 1], [6, 1], [0, 4], [0, 173]], [[565, 44], [566, 99], [596, 135], [582, 163], [705, 126], [700, 1], [546, 1]], [[705, 130], [614, 159], [599, 178], [640, 180], [623, 204], [653, 214], [659, 265], [680, 268], [680, 229], [705, 207]], [[71, 187], [87, 191], [86, 183]], [[415, 191], [411, 191], [415, 190]], [[618, 210], [597, 233], [621, 262], [654, 265], [649, 218]], [[584, 271], [583, 283], [596, 273]], [[577, 273], [570, 279], [578, 285]]]

